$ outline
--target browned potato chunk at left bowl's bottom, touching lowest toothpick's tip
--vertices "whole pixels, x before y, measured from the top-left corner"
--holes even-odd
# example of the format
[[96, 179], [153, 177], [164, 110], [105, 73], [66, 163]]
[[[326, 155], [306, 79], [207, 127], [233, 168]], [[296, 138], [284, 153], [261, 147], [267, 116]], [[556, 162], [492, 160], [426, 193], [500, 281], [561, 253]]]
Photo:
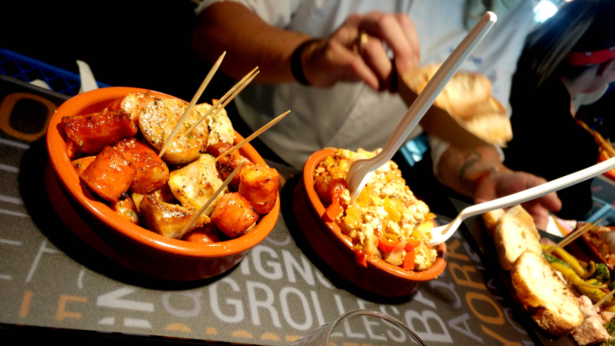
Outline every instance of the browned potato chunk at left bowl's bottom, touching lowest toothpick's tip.
[[[143, 198], [140, 203], [141, 217], [148, 225], [148, 229], [164, 235], [168, 238], [181, 239], [186, 232], [181, 230], [188, 225], [192, 217], [196, 215], [196, 209], [188, 209], [177, 204], [169, 204], [148, 196]], [[192, 229], [201, 227], [204, 223], [209, 223], [209, 217], [200, 214], [197, 222]], [[190, 231], [190, 230], [188, 230]]]

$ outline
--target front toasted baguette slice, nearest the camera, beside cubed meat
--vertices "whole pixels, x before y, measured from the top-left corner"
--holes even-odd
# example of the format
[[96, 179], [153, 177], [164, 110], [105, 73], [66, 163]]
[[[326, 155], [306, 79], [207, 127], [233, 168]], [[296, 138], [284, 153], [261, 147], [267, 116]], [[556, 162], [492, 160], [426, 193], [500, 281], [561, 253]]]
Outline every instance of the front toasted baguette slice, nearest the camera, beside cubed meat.
[[564, 336], [583, 322], [579, 303], [549, 262], [525, 251], [510, 271], [520, 304], [536, 324], [552, 336]]

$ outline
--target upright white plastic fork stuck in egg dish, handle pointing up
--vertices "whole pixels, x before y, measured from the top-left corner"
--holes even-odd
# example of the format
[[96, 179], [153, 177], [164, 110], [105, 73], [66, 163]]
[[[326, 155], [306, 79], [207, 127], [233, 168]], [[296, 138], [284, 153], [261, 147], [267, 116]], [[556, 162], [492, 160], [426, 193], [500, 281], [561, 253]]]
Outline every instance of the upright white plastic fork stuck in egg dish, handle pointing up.
[[347, 188], [351, 193], [350, 204], [354, 204], [357, 200], [361, 189], [370, 180], [371, 175], [373, 175], [376, 169], [393, 157], [393, 154], [408, 137], [410, 131], [415, 128], [416, 124], [418, 124], [429, 107], [434, 103], [436, 97], [442, 92], [446, 83], [453, 78], [461, 64], [466, 61], [467, 57], [478, 46], [478, 43], [482, 41], [486, 33], [491, 30], [491, 26], [493, 26], [497, 18], [493, 12], [487, 12], [480, 18], [474, 28], [470, 30], [451, 55], [446, 58], [446, 61], [436, 71], [434, 77], [427, 82], [425, 89], [416, 97], [415, 102], [412, 103], [406, 115], [403, 116], [402, 121], [395, 128], [383, 150], [373, 158], [358, 159], [351, 164], [346, 175]]

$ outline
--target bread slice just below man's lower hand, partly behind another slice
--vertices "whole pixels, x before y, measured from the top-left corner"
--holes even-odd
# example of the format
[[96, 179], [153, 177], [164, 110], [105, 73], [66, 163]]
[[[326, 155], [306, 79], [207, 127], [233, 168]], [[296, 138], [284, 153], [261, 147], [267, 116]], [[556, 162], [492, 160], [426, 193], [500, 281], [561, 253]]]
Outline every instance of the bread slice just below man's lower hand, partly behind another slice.
[[537, 255], [542, 253], [542, 246], [533, 231], [514, 214], [504, 214], [499, 219], [493, 240], [498, 260], [504, 270], [510, 270], [517, 257], [524, 251]]

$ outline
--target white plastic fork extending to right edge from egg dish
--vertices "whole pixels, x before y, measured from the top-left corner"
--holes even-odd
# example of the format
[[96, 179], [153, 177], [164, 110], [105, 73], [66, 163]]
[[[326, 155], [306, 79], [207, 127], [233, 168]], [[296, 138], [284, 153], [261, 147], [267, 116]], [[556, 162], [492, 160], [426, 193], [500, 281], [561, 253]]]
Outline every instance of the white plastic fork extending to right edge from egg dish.
[[457, 215], [457, 217], [455, 217], [453, 222], [447, 223], [446, 225], [440, 227], [435, 227], [431, 231], [433, 238], [429, 245], [433, 246], [440, 243], [444, 243], [446, 239], [450, 238], [451, 235], [455, 233], [459, 225], [461, 225], [461, 222], [470, 216], [483, 214], [485, 212], [492, 211], [495, 209], [510, 207], [514, 206], [515, 204], [530, 201], [531, 199], [538, 198], [554, 191], [561, 190], [562, 188], [569, 187], [570, 185], [582, 182], [583, 180], [593, 178], [598, 174], [603, 174], [604, 172], [609, 171], [609, 169], [612, 169], [613, 167], [615, 167], [615, 158], [610, 158], [591, 167], [582, 169], [581, 171], [565, 175], [555, 180], [551, 180], [550, 182], [546, 182], [542, 185], [528, 188], [527, 190], [519, 191], [517, 193], [513, 193], [512, 195], [493, 199], [492, 201], [467, 207], [466, 209], [463, 209], [459, 213], [459, 215]]

